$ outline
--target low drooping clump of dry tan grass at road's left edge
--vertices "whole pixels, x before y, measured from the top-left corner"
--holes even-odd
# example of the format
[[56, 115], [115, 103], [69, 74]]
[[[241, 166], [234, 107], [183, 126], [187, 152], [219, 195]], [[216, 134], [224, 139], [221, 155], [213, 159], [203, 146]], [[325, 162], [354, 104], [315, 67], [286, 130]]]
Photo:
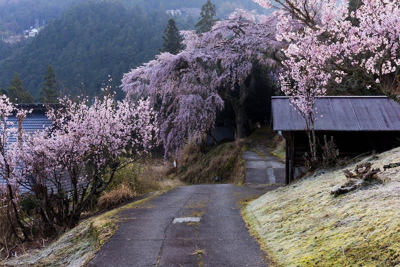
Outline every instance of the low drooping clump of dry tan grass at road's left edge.
[[115, 190], [104, 191], [97, 200], [97, 207], [99, 209], [110, 208], [131, 200], [135, 196], [137, 193], [132, 191], [128, 184], [121, 183]]

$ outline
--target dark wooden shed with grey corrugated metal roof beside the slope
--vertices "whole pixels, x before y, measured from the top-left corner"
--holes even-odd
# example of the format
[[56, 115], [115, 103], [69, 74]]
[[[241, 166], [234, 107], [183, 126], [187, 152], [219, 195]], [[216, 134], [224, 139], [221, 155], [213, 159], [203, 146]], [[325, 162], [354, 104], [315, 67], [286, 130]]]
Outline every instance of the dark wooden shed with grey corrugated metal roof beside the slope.
[[[305, 122], [288, 97], [272, 97], [273, 131], [286, 139], [286, 184], [305, 169], [309, 153]], [[315, 99], [315, 134], [333, 141], [339, 157], [355, 157], [400, 146], [400, 105], [385, 96], [325, 96]], [[314, 110], [315, 112], [315, 110]]]

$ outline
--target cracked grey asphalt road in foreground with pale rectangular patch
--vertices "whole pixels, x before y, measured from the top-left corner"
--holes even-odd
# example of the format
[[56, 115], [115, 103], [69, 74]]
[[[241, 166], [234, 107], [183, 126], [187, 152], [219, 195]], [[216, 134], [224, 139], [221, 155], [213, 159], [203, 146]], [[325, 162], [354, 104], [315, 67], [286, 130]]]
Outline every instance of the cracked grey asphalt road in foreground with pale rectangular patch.
[[87, 266], [269, 266], [240, 206], [264, 192], [230, 184], [182, 186], [126, 208]]

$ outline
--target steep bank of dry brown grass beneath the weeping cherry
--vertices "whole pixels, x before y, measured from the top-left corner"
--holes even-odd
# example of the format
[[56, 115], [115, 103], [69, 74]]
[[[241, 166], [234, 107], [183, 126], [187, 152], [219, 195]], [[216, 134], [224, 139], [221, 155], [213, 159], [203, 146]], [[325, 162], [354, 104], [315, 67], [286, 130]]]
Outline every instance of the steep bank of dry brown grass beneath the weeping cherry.
[[244, 166], [240, 150], [244, 140], [221, 143], [200, 149], [195, 143], [188, 143], [178, 162], [178, 175], [190, 183], [244, 182]]

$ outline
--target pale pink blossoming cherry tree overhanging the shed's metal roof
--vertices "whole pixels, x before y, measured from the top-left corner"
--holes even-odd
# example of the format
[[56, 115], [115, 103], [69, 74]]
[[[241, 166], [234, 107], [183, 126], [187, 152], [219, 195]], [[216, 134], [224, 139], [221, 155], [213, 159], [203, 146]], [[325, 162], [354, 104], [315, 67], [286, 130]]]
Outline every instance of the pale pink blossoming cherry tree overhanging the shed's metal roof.
[[[266, 0], [254, 1], [271, 7]], [[346, 1], [339, 5], [336, 0], [276, 2], [276, 40], [288, 43], [282, 50], [282, 91], [306, 121], [312, 160], [316, 160], [313, 123], [318, 116], [313, 105], [327, 87], [348, 90], [351, 83], [359, 83], [400, 103], [395, 95], [400, 2], [366, 0], [355, 12], [348, 11]]]

